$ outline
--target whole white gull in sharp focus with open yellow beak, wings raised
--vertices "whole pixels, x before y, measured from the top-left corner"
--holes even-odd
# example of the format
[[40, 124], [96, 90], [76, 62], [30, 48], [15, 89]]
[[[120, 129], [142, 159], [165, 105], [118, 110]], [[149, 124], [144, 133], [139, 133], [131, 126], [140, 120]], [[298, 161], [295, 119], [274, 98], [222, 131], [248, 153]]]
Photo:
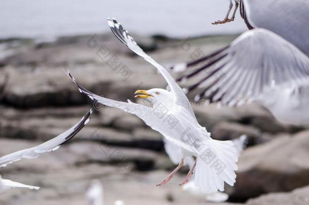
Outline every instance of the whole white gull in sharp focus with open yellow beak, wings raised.
[[128, 100], [128, 103], [119, 102], [87, 91], [77, 83], [68, 71], [67, 75], [78, 86], [80, 92], [103, 105], [137, 115], [153, 130], [160, 132], [167, 140], [181, 148], [182, 158], [178, 167], [157, 186], [169, 182], [183, 166], [184, 158], [187, 156], [196, 156], [196, 161], [181, 185], [190, 179], [196, 169], [195, 184], [204, 191], [214, 192], [218, 189], [223, 191], [224, 181], [233, 186], [238, 160], [233, 142], [213, 140], [210, 133], [198, 124], [187, 97], [169, 72], [145, 54], [134, 42], [128, 31], [124, 30], [115, 19], [108, 19], [108, 25], [122, 43], [159, 70], [171, 91], [154, 88], [148, 91], [138, 90], [135, 92], [135, 94], [138, 94], [135, 97], [149, 100], [153, 107], [137, 104], [130, 100]]

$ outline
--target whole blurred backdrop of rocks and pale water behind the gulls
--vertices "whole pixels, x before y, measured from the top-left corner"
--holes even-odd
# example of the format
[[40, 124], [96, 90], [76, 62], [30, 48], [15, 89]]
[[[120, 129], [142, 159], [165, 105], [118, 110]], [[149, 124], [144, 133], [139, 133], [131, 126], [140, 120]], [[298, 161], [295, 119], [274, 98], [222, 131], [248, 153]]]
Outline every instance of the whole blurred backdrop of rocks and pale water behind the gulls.
[[[114, 100], [166, 88], [154, 67], [113, 36], [106, 18], [117, 18], [152, 58], [169, 66], [220, 49], [246, 30], [239, 14], [232, 23], [211, 24], [223, 19], [228, 1], [2, 0], [0, 8], [0, 156], [51, 139], [94, 109], [90, 123], [59, 150], [0, 170], [5, 179], [41, 187], [12, 190], [0, 204], [87, 204], [92, 179], [102, 182], [106, 204], [209, 203], [178, 186], [187, 169], [156, 187], [175, 168], [162, 136], [135, 115], [90, 101], [62, 69]], [[283, 124], [257, 104], [193, 106], [214, 139], [248, 136], [236, 185], [225, 185], [226, 204], [309, 201], [307, 127]]]

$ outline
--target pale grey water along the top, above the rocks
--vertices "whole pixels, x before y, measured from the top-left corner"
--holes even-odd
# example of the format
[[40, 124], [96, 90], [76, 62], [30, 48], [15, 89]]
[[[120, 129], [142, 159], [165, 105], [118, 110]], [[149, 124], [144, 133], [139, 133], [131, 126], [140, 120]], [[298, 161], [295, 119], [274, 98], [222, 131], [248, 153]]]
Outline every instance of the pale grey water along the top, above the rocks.
[[211, 24], [224, 18], [227, 7], [226, 0], [1, 0], [0, 38], [102, 33], [109, 31], [107, 17], [145, 35], [187, 37], [246, 30], [239, 14], [233, 23]]

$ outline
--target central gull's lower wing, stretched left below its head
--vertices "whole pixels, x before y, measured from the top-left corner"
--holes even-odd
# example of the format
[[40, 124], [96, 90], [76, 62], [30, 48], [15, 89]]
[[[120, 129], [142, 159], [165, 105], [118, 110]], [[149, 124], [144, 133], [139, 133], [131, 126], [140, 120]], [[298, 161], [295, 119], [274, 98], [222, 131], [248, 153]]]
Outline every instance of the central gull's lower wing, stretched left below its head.
[[[159, 106], [156, 108], [150, 108], [145, 105], [134, 103], [130, 100], [128, 100], [128, 102], [121, 102], [95, 95], [90, 91], [86, 90], [84, 87], [82, 87], [75, 80], [75, 78], [69, 73], [69, 71], [66, 72], [66, 74], [73, 80], [76, 86], [78, 86], [79, 91], [81, 93], [86, 94], [90, 99], [95, 100], [101, 103], [102, 105], [118, 108], [124, 110], [125, 112], [135, 114], [136, 116], [141, 118], [147, 126], [151, 127], [151, 129], [158, 131], [159, 133], [164, 135], [164, 137], [166, 137], [172, 143], [190, 152], [194, 151], [193, 149], [194, 147], [190, 146], [186, 141], [184, 141], [182, 139], [183, 136], [181, 135], [182, 133], [187, 133], [187, 127], [189, 125], [184, 126], [181, 120], [178, 121], [177, 119], [178, 116], [174, 117], [172, 114], [169, 114], [167, 110], [165, 110], [166, 108], [164, 107], [162, 108]], [[180, 117], [185, 118], [186, 116], [179, 116], [179, 118]], [[191, 123], [194, 124], [195, 122]], [[199, 136], [198, 133], [195, 136], [198, 137]], [[203, 139], [204, 138], [205, 136], [203, 136]]]

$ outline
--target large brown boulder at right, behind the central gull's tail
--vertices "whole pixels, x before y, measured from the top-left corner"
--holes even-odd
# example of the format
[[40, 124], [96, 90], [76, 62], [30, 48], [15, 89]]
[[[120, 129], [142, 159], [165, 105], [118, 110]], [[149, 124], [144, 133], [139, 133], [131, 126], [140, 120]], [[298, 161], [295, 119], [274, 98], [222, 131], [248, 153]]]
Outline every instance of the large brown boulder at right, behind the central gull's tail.
[[291, 191], [309, 184], [309, 132], [250, 147], [239, 158], [232, 197], [250, 198], [269, 192]]

